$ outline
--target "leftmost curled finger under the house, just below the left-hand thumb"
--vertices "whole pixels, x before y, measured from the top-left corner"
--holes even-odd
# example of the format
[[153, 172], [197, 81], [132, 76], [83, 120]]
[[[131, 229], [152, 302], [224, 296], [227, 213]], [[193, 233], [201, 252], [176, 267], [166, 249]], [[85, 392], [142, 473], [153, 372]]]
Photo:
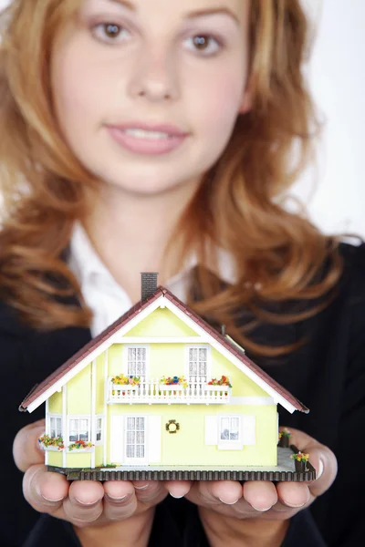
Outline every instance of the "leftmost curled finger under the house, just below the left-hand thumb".
[[50, 473], [44, 465], [31, 466], [23, 478], [26, 501], [39, 512], [55, 514], [68, 496], [68, 480], [60, 473]]

